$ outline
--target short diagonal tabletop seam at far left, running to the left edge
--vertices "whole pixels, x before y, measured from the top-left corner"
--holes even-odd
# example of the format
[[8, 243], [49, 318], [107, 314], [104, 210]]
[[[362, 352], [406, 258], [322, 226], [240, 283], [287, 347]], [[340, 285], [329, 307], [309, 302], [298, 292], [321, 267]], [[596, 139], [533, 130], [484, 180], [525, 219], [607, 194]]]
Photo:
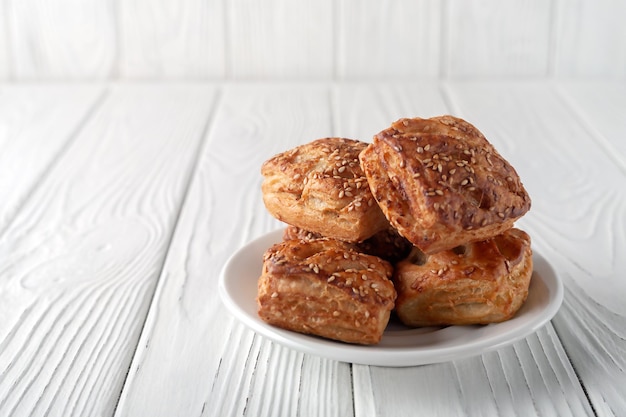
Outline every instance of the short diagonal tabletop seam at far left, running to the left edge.
[[104, 103], [108, 95], [109, 90], [108, 88], [106, 88], [100, 93], [100, 95], [96, 99], [94, 99], [93, 103], [91, 103], [87, 111], [79, 119], [76, 126], [71, 130], [65, 142], [59, 147], [56, 153], [54, 153], [52, 158], [50, 158], [50, 162], [44, 167], [43, 170], [41, 170], [41, 173], [34, 179], [33, 184], [28, 189], [28, 192], [24, 193], [24, 197], [22, 198], [22, 200], [18, 202], [12, 213], [8, 213], [8, 218], [4, 229], [0, 230], [0, 238], [4, 236], [4, 234], [10, 228], [11, 224], [13, 224], [24, 206], [31, 200], [31, 198], [36, 194], [36, 191], [42, 186], [43, 179], [46, 178], [46, 176], [50, 174], [54, 167], [59, 164], [63, 155], [66, 154], [68, 150], [72, 147], [74, 142], [76, 142], [76, 138], [79, 136], [80, 132], [84, 129], [84, 127], [87, 125], [87, 122], [92, 118], [96, 111], [100, 107], [102, 107], [102, 103]]

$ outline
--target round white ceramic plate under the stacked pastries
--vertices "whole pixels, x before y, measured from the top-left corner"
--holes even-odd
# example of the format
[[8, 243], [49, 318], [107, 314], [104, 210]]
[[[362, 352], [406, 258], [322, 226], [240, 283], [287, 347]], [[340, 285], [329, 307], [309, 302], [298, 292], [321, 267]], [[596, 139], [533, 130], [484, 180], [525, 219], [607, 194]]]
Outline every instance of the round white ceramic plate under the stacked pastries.
[[223, 303], [245, 325], [284, 346], [343, 362], [377, 366], [414, 366], [479, 355], [516, 342], [548, 322], [563, 301], [563, 284], [549, 263], [534, 253], [528, 299], [517, 315], [486, 326], [410, 329], [391, 322], [381, 342], [351, 345], [279, 329], [257, 315], [257, 280], [263, 253], [280, 242], [282, 230], [268, 233], [235, 252], [222, 270], [219, 292]]

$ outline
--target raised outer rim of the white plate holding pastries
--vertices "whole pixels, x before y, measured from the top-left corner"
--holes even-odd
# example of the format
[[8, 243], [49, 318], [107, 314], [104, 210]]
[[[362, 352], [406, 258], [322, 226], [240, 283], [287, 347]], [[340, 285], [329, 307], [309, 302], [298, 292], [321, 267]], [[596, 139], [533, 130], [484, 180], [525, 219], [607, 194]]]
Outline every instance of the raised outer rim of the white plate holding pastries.
[[[380, 344], [369, 346], [354, 345], [280, 329], [265, 323], [256, 315], [252, 317], [232, 296], [228, 289], [228, 281], [229, 272], [233, 268], [236, 268], [235, 263], [246, 255], [247, 252], [263, 243], [264, 249], [260, 253], [256, 252], [259, 256], [258, 262], [260, 265], [265, 250], [269, 248], [271, 244], [278, 243], [282, 240], [283, 230], [284, 228], [279, 228], [264, 233], [243, 244], [229, 256], [219, 275], [219, 297], [230, 314], [255, 333], [282, 346], [318, 357], [362, 365], [406, 367], [447, 362], [476, 356], [508, 346], [535, 333], [548, 321], [552, 320], [563, 302], [564, 287], [562, 280], [545, 257], [538, 253], [536, 248], [533, 248], [533, 274], [537, 274], [538, 279], [548, 288], [550, 295], [541, 314], [535, 314], [530, 323], [524, 324], [522, 322], [523, 325], [518, 332], [515, 332], [514, 328], [505, 331], [500, 336], [492, 336], [486, 340], [479, 338], [467, 344], [423, 349], [420, 347], [381, 346]], [[266, 244], [266, 242], [270, 243]], [[260, 274], [261, 270], [259, 269], [259, 276]], [[255, 283], [256, 287], [258, 277], [252, 282]], [[253, 301], [256, 306], [256, 299]], [[499, 324], [501, 323], [486, 326], [498, 326]], [[450, 332], [454, 332], [455, 329], [465, 330], [467, 328], [467, 326], [448, 326], [442, 330], [452, 329]], [[385, 335], [383, 335], [383, 338], [384, 337]], [[388, 334], [387, 337], [394, 336]]]

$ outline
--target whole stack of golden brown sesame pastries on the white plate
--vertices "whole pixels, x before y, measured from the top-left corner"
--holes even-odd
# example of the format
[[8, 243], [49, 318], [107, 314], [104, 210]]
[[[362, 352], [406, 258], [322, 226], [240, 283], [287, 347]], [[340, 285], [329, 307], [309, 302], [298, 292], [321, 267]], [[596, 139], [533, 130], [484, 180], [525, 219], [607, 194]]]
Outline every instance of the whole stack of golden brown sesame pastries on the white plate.
[[406, 118], [372, 143], [325, 138], [267, 160], [267, 210], [286, 223], [263, 257], [258, 314], [376, 344], [407, 326], [496, 323], [528, 295], [530, 209], [515, 169], [470, 123]]

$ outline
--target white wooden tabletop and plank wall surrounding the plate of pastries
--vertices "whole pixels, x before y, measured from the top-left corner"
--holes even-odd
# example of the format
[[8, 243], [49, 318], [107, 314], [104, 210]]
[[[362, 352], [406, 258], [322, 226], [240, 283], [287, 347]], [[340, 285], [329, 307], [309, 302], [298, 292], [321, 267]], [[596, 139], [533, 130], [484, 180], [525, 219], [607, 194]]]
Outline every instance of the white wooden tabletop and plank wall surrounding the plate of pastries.
[[[0, 0], [0, 416], [626, 415], [626, 0]], [[389, 369], [217, 297], [267, 157], [484, 131], [565, 282], [545, 328]], [[228, 221], [226, 219], [236, 219]]]

